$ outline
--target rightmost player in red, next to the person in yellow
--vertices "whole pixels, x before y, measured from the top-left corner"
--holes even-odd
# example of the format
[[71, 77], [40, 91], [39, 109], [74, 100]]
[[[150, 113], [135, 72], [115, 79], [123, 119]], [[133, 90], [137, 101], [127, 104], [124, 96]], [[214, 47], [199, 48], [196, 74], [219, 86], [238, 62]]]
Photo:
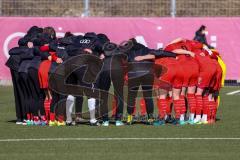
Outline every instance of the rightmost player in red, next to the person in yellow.
[[207, 124], [209, 109], [214, 108], [215, 110], [216, 108], [212, 93], [209, 91], [211, 91], [212, 84], [214, 84], [217, 76], [217, 65], [216, 61], [211, 59], [212, 52], [207, 46], [196, 41], [188, 41], [188, 43], [194, 48], [195, 58], [200, 66], [198, 87], [195, 94], [197, 108], [194, 123]]

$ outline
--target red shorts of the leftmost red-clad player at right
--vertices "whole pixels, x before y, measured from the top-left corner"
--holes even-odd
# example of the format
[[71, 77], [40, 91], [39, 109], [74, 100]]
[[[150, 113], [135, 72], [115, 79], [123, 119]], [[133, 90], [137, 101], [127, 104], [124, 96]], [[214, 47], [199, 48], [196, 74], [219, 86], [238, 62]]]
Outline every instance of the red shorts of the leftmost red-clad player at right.
[[160, 81], [171, 84], [173, 88], [182, 88], [183, 83], [183, 71], [180, 67], [180, 63], [173, 58], [160, 58], [155, 61], [155, 64], [159, 64], [167, 68], [166, 73], [160, 76]]

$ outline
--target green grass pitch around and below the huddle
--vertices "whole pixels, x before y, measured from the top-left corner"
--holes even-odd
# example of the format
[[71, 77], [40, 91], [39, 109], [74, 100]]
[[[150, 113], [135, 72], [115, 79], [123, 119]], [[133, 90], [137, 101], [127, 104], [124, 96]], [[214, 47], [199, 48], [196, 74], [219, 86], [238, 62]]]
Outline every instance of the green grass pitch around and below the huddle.
[[[22, 138], [239, 138], [239, 95], [221, 91], [220, 119], [215, 125], [161, 127], [133, 126], [37, 127], [21, 126], [15, 119], [11, 87], [0, 87], [0, 139]], [[1, 159], [239, 159], [240, 140], [110, 140], [110, 141], [22, 141], [1, 142]]]

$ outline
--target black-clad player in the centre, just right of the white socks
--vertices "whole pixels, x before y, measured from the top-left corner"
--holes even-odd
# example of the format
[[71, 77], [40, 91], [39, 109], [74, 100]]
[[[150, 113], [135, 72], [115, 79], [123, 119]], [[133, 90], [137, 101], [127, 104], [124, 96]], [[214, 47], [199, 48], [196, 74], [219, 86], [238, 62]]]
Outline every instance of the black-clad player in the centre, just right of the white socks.
[[[105, 37], [104, 35], [99, 35]], [[102, 71], [98, 78], [98, 86], [102, 90], [101, 92], [101, 102], [100, 110], [103, 119], [103, 126], [109, 126], [109, 117], [108, 117], [108, 91], [111, 86], [111, 82], [114, 88], [114, 97], [117, 101], [116, 114], [115, 114], [115, 125], [122, 126], [123, 116], [123, 106], [124, 106], [124, 96], [123, 96], [123, 87], [124, 87], [124, 76], [127, 69], [127, 56], [125, 54], [126, 47], [123, 45], [116, 45], [114, 43], [108, 42], [109, 39], [105, 37], [103, 43], [105, 43], [103, 48], [104, 53], [104, 65]], [[108, 42], [108, 43], [106, 43]], [[110, 105], [111, 106], [111, 105]]]

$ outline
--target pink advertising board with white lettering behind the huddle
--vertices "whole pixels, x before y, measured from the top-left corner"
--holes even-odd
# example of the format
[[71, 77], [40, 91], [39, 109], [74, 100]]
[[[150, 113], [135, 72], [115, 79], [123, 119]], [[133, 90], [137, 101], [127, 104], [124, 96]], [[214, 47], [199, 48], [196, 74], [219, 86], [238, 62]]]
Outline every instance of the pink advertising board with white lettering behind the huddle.
[[59, 37], [64, 32], [105, 33], [116, 43], [137, 37], [150, 48], [159, 48], [171, 40], [192, 39], [200, 25], [209, 31], [208, 42], [220, 51], [227, 64], [226, 79], [240, 79], [240, 18], [36, 18], [0, 17], [0, 79], [11, 79], [5, 67], [8, 50], [33, 25], [53, 26]]

